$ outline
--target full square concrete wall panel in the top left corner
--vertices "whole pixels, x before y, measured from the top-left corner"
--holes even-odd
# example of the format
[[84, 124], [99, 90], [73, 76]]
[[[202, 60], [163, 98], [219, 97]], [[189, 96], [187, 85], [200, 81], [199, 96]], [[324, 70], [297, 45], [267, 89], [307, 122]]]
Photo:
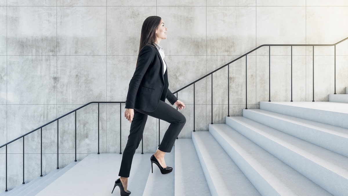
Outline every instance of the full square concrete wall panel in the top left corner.
[[7, 7], [8, 55], [56, 55], [57, 7]]

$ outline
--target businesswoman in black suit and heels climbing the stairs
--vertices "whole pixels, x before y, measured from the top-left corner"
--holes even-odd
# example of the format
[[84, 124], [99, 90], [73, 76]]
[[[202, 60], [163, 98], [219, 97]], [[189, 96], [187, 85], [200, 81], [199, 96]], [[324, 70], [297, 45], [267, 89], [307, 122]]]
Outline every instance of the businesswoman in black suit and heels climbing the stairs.
[[[173, 171], [164, 161], [164, 154], [171, 152], [175, 139], [185, 125], [186, 119], [179, 111], [165, 103], [165, 99], [180, 110], [185, 108], [168, 89], [168, 68], [164, 61], [164, 50], [159, 43], [167, 38], [167, 28], [161, 17], [150, 16], [145, 19], [140, 37], [139, 55], [134, 75], [129, 83], [125, 117], [132, 124], [126, 148], [123, 152], [118, 186], [121, 196], [129, 195], [127, 190], [130, 167], [135, 150], [142, 139], [148, 115], [171, 123], [155, 154], [150, 158], [151, 167], [155, 163], [162, 174]], [[113, 191], [113, 190], [112, 190]]]

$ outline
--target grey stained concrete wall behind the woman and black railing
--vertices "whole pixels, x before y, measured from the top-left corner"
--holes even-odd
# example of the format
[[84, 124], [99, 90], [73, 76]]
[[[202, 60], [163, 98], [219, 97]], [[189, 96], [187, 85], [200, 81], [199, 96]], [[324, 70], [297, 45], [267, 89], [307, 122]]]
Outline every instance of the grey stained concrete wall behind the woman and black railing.
[[[125, 101], [133, 75], [141, 25], [161, 16], [169, 88], [176, 91], [262, 44], [333, 44], [348, 37], [345, 0], [0, 0], [0, 144], [5, 144], [90, 101]], [[248, 108], [267, 101], [268, 47], [248, 55]], [[271, 47], [271, 100], [291, 99], [290, 47]], [[293, 100], [311, 101], [312, 47], [293, 47]], [[315, 47], [315, 100], [334, 92], [334, 48]], [[348, 41], [337, 46], [337, 93], [348, 86]], [[224, 123], [245, 108], [245, 58], [195, 85], [196, 130]], [[178, 93], [193, 130], [193, 86]], [[121, 115], [124, 105], [121, 105]], [[130, 123], [121, 116], [122, 148]], [[119, 152], [119, 104], [100, 105], [100, 152]], [[77, 112], [78, 159], [97, 152], [97, 105]], [[57, 123], [43, 129], [44, 174], [56, 167]], [[74, 160], [74, 115], [59, 122], [60, 166]], [[160, 137], [168, 123], [160, 122]], [[40, 172], [40, 136], [25, 137], [25, 173]], [[22, 182], [22, 143], [8, 146], [9, 184]], [[144, 152], [158, 145], [158, 120], [149, 118]], [[137, 150], [141, 152], [141, 148]], [[5, 190], [5, 148], [0, 149], [0, 190]], [[34, 162], [30, 162], [30, 161]], [[117, 175], [117, 174], [116, 174]]]

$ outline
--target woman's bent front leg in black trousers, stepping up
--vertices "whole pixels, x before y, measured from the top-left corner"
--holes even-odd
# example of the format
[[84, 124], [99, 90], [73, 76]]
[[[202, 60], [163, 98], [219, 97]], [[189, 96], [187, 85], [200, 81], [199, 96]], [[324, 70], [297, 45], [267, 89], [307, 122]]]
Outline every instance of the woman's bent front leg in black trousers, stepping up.
[[179, 135], [181, 129], [185, 125], [186, 118], [179, 111], [166, 104], [164, 101], [159, 101], [156, 110], [153, 112], [145, 112], [141, 110], [139, 111], [149, 116], [171, 123], [163, 136], [163, 140], [159, 145], [158, 150], [154, 154], [160, 165], [162, 167], [166, 167], [164, 162], [164, 154], [165, 152], [171, 152], [176, 137]]

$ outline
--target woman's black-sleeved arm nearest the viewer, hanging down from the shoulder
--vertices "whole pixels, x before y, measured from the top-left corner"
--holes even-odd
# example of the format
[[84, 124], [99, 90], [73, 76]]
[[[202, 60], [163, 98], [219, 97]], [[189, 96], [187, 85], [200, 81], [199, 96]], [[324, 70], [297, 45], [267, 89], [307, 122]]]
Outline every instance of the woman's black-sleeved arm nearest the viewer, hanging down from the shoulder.
[[129, 82], [129, 88], [126, 99], [126, 108], [134, 109], [135, 96], [139, 89], [140, 82], [143, 79], [146, 70], [150, 66], [155, 54], [156, 49], [150, 45], [144, 46], [139, 52], [138, 65], [135, 68], [132, 79]]

